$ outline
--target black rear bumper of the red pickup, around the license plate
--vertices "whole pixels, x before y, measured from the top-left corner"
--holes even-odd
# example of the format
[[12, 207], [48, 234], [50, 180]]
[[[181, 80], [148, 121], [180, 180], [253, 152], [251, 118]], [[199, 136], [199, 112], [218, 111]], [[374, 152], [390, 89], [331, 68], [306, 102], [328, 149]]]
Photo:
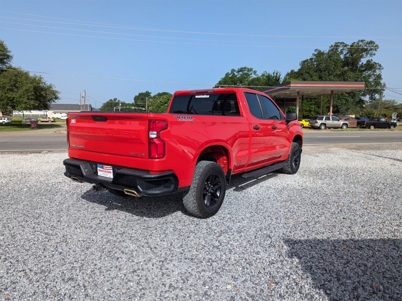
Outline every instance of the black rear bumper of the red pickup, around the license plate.
[[63, 161], [66, 166], [64, 175], [81, 182], [92, 183], [113, 189], [135, 190], [140, 195], [164, 195], [178, 191], [178, 178], [173, 172], [149, 173], [112, 165], [113, 179], [98, 176], [97, 163], [76, 159]]

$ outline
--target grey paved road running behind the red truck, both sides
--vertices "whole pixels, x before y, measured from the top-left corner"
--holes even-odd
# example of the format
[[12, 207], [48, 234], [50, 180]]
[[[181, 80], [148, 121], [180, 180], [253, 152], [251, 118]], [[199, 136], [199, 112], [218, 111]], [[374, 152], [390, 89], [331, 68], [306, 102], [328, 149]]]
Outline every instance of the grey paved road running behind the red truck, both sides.
[[[304, 132], [304, 145], [402, 143], [402, 132]], [[66, 134], [39, 132], [0, 133], [0, 152], [65, 150]]]

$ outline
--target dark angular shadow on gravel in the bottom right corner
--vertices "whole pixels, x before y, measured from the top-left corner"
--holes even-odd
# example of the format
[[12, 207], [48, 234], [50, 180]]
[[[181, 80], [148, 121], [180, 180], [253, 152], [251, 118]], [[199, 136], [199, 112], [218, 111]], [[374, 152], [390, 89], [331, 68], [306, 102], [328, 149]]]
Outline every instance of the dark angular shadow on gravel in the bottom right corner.
[[331, 301], [402, 300], [402, 240], [285, 240]]

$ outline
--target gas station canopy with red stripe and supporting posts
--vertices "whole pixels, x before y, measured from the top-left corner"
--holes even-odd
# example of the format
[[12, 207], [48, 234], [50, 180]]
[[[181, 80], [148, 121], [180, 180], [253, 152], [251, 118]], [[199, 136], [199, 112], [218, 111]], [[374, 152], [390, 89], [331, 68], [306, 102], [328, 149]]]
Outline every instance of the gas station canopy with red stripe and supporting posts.
[[274, 87], [260, 90], [277, 103], [279, 107], [296, 106], [299, 111], [301, 96], [301, 118], [303, 118], [303, 100], [306, 97], [330, 95], [330, 115], [332, 115], [332, 96], [336, 93], [361, 91], [364, 81], [288, 81]]

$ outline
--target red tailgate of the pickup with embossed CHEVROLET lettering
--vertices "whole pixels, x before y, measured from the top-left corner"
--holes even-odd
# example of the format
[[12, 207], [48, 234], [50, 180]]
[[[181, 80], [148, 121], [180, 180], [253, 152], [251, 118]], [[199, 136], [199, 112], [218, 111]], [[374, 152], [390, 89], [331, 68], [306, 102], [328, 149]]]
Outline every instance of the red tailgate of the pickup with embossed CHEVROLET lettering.
[[69, 156], [148, 169], [148, 114], [69, 113]]

